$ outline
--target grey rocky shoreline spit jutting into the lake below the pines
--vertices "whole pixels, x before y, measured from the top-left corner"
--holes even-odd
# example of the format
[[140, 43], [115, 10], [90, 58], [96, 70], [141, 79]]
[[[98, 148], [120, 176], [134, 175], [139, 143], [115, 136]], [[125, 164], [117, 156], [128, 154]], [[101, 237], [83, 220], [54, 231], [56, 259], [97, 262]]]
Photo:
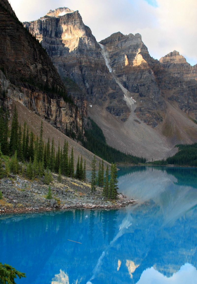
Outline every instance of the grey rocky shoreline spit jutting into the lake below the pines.
[[62, 182], [59, 183], [55, 174], [50, 187], [52, 199], [47, 199], [49, 185], [43, 184], [42, 179], [30, 181], [18, 175], [1, 179], [3, 198], [0, 199], [0, 214], [82, 208], [117, 209], [136, 204], [135, 200], [127, 199], [121, 193], [117, 200], [109, 201], [103, 197], [100, 187], [93, 194], [89, 182], [62, 177]]

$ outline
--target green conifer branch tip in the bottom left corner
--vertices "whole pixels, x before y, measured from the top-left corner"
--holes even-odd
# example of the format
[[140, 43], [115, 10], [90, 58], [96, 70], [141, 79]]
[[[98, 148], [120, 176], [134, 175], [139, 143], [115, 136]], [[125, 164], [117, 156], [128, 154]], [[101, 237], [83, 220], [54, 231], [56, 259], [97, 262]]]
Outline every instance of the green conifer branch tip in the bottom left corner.
[[14, 279], [16, 277], [26, 277], [25, 273], [16, 270], [9, 264], [2, 264], [0, 262], [0, 284], [16, 284]]

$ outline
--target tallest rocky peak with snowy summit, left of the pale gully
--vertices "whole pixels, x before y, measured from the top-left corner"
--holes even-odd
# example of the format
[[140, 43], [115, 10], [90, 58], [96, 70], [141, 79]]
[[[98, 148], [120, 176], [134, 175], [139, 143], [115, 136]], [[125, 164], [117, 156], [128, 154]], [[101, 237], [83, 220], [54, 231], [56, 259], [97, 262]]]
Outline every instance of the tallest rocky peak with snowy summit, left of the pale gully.
[[[114, 108], [116, 111], [111, 113], [125, 121], [130, 108], [123, 100], [123, 92], [109, 72], [90, 28], [84, 25], [78, 11], [66, 13], [68, 8], [59, 9], [39, 20], [25, 22], [24, 26], [42, 42], [65, 86], [68, 78], [74, 80], [88, 103], [103, 105], [109, 111]], [[59, 16], [63, 11], [65, 14]]]

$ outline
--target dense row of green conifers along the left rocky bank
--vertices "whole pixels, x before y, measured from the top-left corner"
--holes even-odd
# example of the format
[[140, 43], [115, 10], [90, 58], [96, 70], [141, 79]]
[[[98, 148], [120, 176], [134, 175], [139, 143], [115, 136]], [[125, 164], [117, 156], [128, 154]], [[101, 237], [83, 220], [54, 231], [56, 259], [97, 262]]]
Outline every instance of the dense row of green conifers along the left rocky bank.
[[[5, 175], [11, 171], [14, 174], [19, 172], [29, 179], [36, 176], [46, 176], [46, 183], [51, 179], [51, 172], [71, 178], [86, 180], [86, 161], [82, 156], [78, 156], [77, 171], [74, 172], [74, 153], [73, 148], [70, 156], [68, 155], [68, 141], [64, 141], [63, 149], [58, 145], [55, 153], [54, 139], [50, 146], [48, 137], [47, 143], [43, 142], [43, 123], [40, 126], [40, 135], [35, 137], [29, 130], [28, 125], [24, 122], [23, 131], [18, 123], [18, 113], [14, 107], [11, 130], [8, 127], [8, 112], [0, 108], [0, 145], [2, 154], [11, 157], [5, 162]], [[80, 159], [80, 162], [79, 162]], [[2, 160], [0, 161], [2, 165]], [[22, 162], [23, 164], [19, 163]], [[1, 166], [2, 168], [2, 166]], [[0, 175], [3, 172], [1, 169]], [[48, 180], [48, 182], [47, 182]]]

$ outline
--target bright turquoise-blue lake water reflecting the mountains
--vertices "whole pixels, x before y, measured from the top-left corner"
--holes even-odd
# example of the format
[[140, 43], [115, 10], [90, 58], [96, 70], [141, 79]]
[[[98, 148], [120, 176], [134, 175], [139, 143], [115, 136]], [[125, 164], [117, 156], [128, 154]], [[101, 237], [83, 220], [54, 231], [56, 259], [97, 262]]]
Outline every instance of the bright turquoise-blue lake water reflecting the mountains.
[[0, 216], [0, 262], [18, 284], [196, 284], [197, 169], [125, 167], [138, 204]]

